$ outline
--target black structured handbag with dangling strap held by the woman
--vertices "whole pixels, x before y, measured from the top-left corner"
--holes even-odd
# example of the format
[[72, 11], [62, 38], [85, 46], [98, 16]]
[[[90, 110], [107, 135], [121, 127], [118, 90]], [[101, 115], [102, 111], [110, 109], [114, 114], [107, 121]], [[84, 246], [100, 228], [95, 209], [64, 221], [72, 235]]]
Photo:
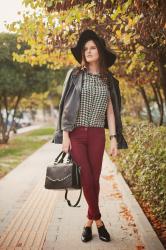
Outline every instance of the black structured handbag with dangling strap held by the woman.
[[[67, 161], [64, 162], [66, 154], [68, 154], [68, 158]], [[65, 189], [65, 200], [67, 200], [68, 205], [70, 207], [76, 207], [81, 199], [82, 194], [80, 171], [80, 166], [73, 161], [71, 154], [62, 151], [56, 157], [54, 164], [47, 167], [45, 188], [61, 190]], [[71, 202], [67, 198], [68, 189], [81, 189], [79, 198], [74, 205], [71, 205]]]

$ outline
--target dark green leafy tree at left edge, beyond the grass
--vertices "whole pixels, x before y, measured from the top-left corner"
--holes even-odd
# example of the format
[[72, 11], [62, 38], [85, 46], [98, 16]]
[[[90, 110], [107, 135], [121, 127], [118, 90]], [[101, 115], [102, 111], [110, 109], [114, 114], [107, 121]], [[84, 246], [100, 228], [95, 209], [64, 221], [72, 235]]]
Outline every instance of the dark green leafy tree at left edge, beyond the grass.
[[[24, 47], [26, 47], [24, 45]], [[7, 143], [14, 124], [16, 111], [23, 97], [48, 89], [51, 73], [45, 66], [30, 66], [13, 61], [17, 52], [17, 36], [0, 34], [0, 143]], [[20, 51], [19, 51], [20, 53]], [[11, 124], [9, 118], [11, 117]]]

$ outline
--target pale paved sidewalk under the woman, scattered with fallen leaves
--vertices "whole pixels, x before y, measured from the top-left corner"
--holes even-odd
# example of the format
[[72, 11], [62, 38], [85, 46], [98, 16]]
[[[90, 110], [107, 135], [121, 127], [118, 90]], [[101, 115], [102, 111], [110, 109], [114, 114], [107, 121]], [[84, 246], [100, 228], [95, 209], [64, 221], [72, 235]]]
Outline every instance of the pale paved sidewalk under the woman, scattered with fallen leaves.
[[[61, 151], [47, 143], [0, 180], [0, 250], [112, 249], [164, 250], [156, 233], [116, 166], [104, 154], [100, 178], [100, 209], [112, 241], [102, 242], [93, 225], [93, 240], [80, 239], [87, 204], [71, 208], [64, 191], [44, 188], [46, 167]], [[75, 201], [79, 191], [69, 191]]]

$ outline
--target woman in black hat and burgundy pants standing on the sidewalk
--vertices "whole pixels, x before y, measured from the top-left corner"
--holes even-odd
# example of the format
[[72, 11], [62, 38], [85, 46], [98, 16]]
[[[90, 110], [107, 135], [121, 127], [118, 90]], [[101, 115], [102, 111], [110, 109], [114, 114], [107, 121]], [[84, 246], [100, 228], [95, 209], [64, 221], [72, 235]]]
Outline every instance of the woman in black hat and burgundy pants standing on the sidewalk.
[[[88, 204], [88, 220], [83, 227], [81, 240], [87, 242], [92, 239], [92, 224], [95, 221], [99, 238], [110, 241], [110, 234], [101, 220], [99, 209], [99, 178], [105, 148], [105, 128], [109, 128], [109, 154], [112, 156], [118, 154], [117, 127], [122, 129], [120, 118], [117, 120], [120, 107], [116, 108], [115, 119], [108, 71], [116, 56], [106, 48], [104, 40], [92, 30], [83, 31], [76, 47], [71, 48], [71, 51], [81, 64], [76, 71], [83, 72], [83, 76], [80, 80], [81, 73], [77, 73], [77, 77], [74, 78], [72, 70], [66, 77], [57, 131], [63, 131], [62, 150], [70, 152], [73, 160], [81, 167], [81, 183]], [[74, 81], [75, 84], [72, 85]], [[115, 107], [118, 98], [112, 99]], [[118, 121], [117, 124], [115, 120]], [[127, 148], [124, 137], [120, 135], [123, 145], [119, 148]], [[61, 140], [57, 139], [56, 142], [55, 139], [53, 142], [60, 143]]]

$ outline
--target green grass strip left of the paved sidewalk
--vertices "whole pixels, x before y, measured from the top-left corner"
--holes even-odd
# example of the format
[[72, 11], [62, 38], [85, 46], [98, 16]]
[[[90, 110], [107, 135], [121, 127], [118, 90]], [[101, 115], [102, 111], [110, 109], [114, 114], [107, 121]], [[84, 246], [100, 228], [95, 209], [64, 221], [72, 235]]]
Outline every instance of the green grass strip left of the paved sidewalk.
[[40, 128], [16, 135], [7, 145], [0, 145], [0, 177], [7, 174], [25, 158], [52, 139], [55, 129]]

